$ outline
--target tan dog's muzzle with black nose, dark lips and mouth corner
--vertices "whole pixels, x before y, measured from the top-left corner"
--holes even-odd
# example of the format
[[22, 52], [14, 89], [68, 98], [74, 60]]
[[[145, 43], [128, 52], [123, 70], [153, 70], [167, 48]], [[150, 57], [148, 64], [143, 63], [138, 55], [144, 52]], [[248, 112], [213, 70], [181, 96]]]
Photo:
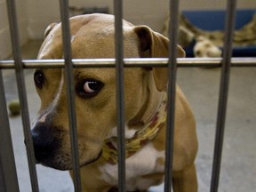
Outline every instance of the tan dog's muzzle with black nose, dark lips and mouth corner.
[[[39, 123], [31, 130], [36, 164], [57, 170], [72, 170], [72, 152], [69, 133], [62, 127]], [[80, 136], [77, 140], [79, 166], [92, 164], [101, 156], [99, 142]]]

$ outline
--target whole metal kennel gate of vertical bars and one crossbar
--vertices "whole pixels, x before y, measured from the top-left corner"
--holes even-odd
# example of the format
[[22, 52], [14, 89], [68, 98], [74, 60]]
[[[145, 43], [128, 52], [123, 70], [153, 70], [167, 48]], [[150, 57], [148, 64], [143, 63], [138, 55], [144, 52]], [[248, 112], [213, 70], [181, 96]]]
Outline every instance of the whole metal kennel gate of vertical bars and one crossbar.
[[[15, 68], [18, 92], [21, 106], [21, 118], [23, 124], [24, 137], [27, 140], [27, 156], [28, 167], [31, 181], [31, 188], [33, 191], [39, 191], [37, 176], [36, 176], [36, 160], [34, 157], [34, 150], [32, 139], [30, 136], [30, 121], [28, 116], [28, 101], [25, 89], [24, 69], [26, 68], [65, 68], [65, 76], [68, 79], [67, 94], [68, 94], [68, 116], [70, 125], [70, 140], [72, 143], [72, 162], [75, 172], [75, 191], [81, 191], [81, 181], [79, 172], [79, 160], [77, 142], [76, 142], [76, 114], [74, 110], [75, 93], [72, 78], [72, 68], [116, 68], [116, 114], [117, 114], [117, 135], [118, 135], [118, 187], [120, 191], [125, 191], [125, 160], [124, 160], [124, 68], [128, 67], [168, 67], [169, 82], [168, 84], [168, 116], [166, 137], [172, 138], [166, 140], [166, 163], [165, 177], [164, 177], [164, 191], [171, 191], [172, 189], [172, 143], [173, 143], [173, 126], [174, 126], [174, 99], [175, 99], [175, 82], [176, 82], [176, 68], [193, 68], [193, 67], [221, 67], [220, 76], [220, 92], [219, 92], [219, 106], [215, 134], [215, 146], [212, 161], [212, 180], [211, 192], [218, 191], [219, 177], [220, 177], [220, 161], [221, 150], [224, 139], [225, 128], [225, 114], [228, 99], [228, 79], [230, 67], [256, 67], [255, 58], [231, 58], [232, 38], [234, 33], [234, 23], [236, 15], [236, 0], [228, 0], [227, 16], [225, 25], [225, 42], [223, 57], [219, 59], [177, 59], [176, 60], [176, 44], [177, 44], [177, 27], [178, 27], [178, 10], [179, 1], [170, 0], [171, 20], [169, 22], [169, 58], [165, 59], [124, 59], [123, 55], [123, 33], [122, 33], [122, 7], [121, 0], [114, 1], [115, 12], [115, 45], [116, 45], [116, 60], [73, 60], [70, 46], [70, 31], [68, 23], [68, 0], [60, 0], [60, 15], [63, 32], [64, 44], [64, 60], [22, 60], [20, 55], [20, 40], [19, 30], [17, 25], [17, 15], [14, 0], [7, 0], [7, 10], [9, 16], [9, 25], [12, 36], [12, 53], [14, 60], [0, 60], [0, 191], [19, 191], [19, 184], [14, 162], [14, 155], [12, 149], [12, 138], [10, 132], [10, 124], [8, 121], [8, 112], [6, 109], [6, 100], [4, 97], [4, 80], [2, 76], [2, 69]], [[116, 65], [119, 63], [119, 65]], [[172, 98], [172, 100], [171, 100]]]

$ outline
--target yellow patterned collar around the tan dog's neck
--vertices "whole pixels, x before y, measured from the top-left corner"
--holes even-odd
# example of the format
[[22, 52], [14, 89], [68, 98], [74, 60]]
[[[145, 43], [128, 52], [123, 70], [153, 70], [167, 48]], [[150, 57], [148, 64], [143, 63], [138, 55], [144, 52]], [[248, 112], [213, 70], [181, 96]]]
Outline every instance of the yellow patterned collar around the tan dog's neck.
[[[166, 120], [167, 94], [156, 108], [156, 113], [148, 119], [148, 122], [131, 139], [125, 140], [125, 157], [128, 158], [148, 144], [156, 137], [157, 132], [164, 126]], [[117, 164], [117, 138], [105, 140], [102, 148], [102, 156], [109, 164]]]

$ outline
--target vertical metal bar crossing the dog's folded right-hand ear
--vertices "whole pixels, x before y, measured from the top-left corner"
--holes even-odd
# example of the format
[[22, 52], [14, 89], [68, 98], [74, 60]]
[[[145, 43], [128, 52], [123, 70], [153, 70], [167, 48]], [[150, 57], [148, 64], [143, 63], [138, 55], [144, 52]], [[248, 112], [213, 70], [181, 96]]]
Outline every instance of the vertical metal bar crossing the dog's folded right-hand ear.
[[175, 119], [176, 71], [177, 71], [177, 36], [179, 0], [170, 0], [169, 21], [169, 64], [168, 64], [168, 113], [165, 142], [164, 191], [172, 190], [172, 151]]

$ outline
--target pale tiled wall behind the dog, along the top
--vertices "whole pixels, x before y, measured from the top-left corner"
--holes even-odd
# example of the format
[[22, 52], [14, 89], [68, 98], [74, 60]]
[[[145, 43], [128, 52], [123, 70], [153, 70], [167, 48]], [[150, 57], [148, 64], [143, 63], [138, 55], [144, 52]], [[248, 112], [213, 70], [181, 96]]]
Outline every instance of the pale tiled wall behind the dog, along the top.
[[[110, 13], [113, 13], [113, 2], [113, 0], [69, 0], [70, 5], [108, 6]], [[136, 25], [148, 25], [156, 31], [161, 31], [168, 12], [168, 0], [124, 0], [123, 2], [125, 20]], [[224, 9], [226, 2], [225, 0], [180, 0], [180, 9]], [[22, 44], [28, 38], [43, 38], [44, 28], [54, 21], [60, 21], [58, 0], [16, 0], [16, 4]], [[256, 0], [238, 0], [237, 6], [256, 9]], [[0, 59], [11, 53], [10, 42], [6, 0], [0, 0]]]

